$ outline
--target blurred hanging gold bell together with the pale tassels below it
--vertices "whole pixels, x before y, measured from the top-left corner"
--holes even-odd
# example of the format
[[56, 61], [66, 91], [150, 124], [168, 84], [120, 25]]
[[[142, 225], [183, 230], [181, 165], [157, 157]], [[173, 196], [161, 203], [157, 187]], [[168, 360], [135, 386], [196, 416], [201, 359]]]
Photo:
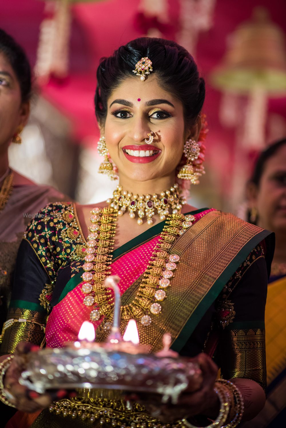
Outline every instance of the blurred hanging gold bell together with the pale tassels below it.
[[247, 149], [261, 149], [265, 144], [268, 97], [286, 95], [285, 36], [271, 21], [267, 9], [254, 8], [253, 18], [235, 29], [211, 79], [224, 94], [222, 122], [227, 123], [230, 117], [234, 125], [241, 127], [234, 100], [248, 97], [241, 142]]

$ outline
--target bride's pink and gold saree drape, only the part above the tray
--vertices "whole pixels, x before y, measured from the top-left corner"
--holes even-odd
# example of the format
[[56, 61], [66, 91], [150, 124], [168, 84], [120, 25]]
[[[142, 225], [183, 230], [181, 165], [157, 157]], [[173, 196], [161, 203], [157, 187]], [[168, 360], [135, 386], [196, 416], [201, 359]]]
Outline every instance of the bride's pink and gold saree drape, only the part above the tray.
[[[173, 338], [173, 348], [180, 351], [235, 269], [268, 235], [269, 232], [232, 214], [215, 210], [194, 223], [170, 249], [170, 253], [180, 256], [180, 262], [167, 290], [167, 299], [162, 303], [162, 313], [154, 316], [147, 328], [137, 322], [140, 343], [150, 345], [151, 352], [157, 352], [161, 349], [164, 332], [168, 331]], [[156, 241], [152, 240], [147, 257], [155, 244]], [[139, 256], [137, 250], [131, 250], [129, 256], [133, 260], [132, 268], [135, 268]], [[121, 259], [124, 257], [128, 254]], [[135, 281], [130, 278], [131, 281], [126, 282], [128, 275], [120, 270], [120, 259], [111, 265], [111, 273], [122, 278], [122, 306], [132, 304], [142, 275]], [[82, 322], [89, 319], [91, 309], [82, 303], [85, 294], [81, 290], [81, 274], [79, 272], [71, 278], [48, 318], [47, 346], [60, 347], [67, 341], [76, 340]], [[121, 319], [121, 333], [124, 333], [130, 318]], [[98, 342], [104, 341], [109, 333], [104, 327], [100, 328], [101, 323], [104, 320], [94, 323]]]

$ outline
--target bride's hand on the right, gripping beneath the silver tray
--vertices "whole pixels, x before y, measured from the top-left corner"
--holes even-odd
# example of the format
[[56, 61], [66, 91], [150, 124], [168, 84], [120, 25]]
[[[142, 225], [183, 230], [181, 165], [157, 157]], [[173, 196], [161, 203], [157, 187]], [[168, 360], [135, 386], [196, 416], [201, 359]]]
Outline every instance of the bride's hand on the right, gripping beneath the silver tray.
[[200, 366], [203, 376], [202, 386], [195, 392], [182, 393], [177, 404], [162, 404], [162, 397], [158, 394], [136, 394], [127, 396], [126, 399], [139, 401], [151, 416], [164, 423], [196, 415], [216, 419], [220, 408], [220, 402], [214, 391], [217, 366], [206, 354], [199, 354], [192, 358], [192, 361]]

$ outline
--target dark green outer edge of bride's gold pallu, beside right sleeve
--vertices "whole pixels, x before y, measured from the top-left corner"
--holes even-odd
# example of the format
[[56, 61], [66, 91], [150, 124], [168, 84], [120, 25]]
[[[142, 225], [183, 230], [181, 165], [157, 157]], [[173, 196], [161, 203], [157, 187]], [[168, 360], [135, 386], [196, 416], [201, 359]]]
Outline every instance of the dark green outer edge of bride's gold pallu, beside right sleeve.
[[209, 289], [209, 292], [192, 312], [190, 318], [179, 333], [179, 336], [171, 346], [173, 351], [180, 352], [182, 350], [189, 337], [194, 332], [194, 329], [197, 327], [197, 324], [200, 322], [203, 314], [215, 301], [226, 282], [233, 275], [238, 266], [240, 266], [241, 263], [247, 258], [251, 250], [253, 250], [253, 248], [256, 247], [259, 242], [268, 237], [268, 235], [271, 235], [271, 232], [268, 230], [262, 230], [253, 236], [253, 238], [251, 238], [247, 244], [245, 244], [244, 247], [241, 248], [241, 250], [236, 254], [236, 256], [232, 259], [232, 262], [229, 263], [229, 265], [223, 270], [220, 276], [216, 279], [215, 283]]

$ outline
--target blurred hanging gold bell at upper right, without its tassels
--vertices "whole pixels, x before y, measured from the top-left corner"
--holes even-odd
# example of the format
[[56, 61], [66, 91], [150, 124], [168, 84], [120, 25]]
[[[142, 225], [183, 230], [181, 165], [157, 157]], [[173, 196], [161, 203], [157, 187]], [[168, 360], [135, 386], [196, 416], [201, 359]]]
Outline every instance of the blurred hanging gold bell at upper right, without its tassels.
[[267, 9], [254, 8], [253, 18], [232, 33], [223, 61], [211, 78], [218, 89], [238, 95], [249, 95], [258, 83], [269, 96], [286, 94], [285, 36]]

